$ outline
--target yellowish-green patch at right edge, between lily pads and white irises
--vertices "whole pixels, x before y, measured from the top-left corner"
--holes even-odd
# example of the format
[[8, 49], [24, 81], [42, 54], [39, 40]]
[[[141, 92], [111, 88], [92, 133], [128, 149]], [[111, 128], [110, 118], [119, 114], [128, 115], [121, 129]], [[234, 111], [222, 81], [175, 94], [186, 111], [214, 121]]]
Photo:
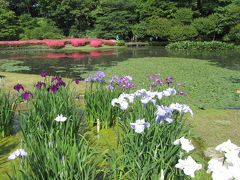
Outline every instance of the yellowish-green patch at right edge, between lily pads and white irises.
[[202, 139], [205, 147], [215, 147], [228, 139], [240, 145], [239, 110], [197, 110], [189, 123], [193, 133]]

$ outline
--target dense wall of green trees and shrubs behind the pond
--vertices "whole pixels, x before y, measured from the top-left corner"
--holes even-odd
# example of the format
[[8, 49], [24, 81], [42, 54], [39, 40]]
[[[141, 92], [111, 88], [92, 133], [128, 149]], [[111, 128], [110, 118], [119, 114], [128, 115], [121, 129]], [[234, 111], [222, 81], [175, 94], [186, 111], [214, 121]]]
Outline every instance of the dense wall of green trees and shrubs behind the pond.
[[0, 40], [97, 37], [239, 43], [239, 0], [1, 0]]

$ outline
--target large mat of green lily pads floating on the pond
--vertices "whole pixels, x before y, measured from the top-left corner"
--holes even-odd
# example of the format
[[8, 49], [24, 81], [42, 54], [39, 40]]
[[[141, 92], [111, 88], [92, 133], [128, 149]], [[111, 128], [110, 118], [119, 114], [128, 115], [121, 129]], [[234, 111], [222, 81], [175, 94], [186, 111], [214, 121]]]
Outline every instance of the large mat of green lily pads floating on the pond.
[[104, 70], [107, 75], [131, 75], [138, 84], [146, 86], [147, 76], [160, 73], [162, 77], [172, 76], [176, 82], [184, 82], [182, 90], [188, 93], [183, 101], [195, 107], [225, 108], [239, 107], [237, 90], [240, 72], [218, 67], [212, 62], [185, 58], [132, 58]]

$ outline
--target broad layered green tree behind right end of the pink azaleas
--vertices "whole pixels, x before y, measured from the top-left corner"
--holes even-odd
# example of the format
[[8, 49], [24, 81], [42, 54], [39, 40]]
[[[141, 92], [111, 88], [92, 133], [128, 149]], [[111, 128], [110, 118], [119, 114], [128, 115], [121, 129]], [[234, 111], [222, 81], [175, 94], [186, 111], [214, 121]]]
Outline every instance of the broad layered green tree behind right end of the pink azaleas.
[[129, 39], [136, 23], [136, 5], [130, 0], [102, 0], [94, 16], [97, 37], [112, 39], [117, 35]]

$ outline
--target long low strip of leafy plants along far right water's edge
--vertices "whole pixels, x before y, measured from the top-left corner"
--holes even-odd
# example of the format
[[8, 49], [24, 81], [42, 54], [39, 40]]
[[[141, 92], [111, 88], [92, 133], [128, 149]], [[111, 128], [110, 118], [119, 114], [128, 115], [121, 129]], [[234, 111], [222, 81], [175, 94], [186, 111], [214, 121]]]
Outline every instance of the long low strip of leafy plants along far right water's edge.
[[167, 49], [171, 50], [231, 50], [235, 49], [233, 44], [228, 44], [219, 41], [210, 42], [193, 42], [193, 41], [182, 41], [170, 43], [166, 46]]

